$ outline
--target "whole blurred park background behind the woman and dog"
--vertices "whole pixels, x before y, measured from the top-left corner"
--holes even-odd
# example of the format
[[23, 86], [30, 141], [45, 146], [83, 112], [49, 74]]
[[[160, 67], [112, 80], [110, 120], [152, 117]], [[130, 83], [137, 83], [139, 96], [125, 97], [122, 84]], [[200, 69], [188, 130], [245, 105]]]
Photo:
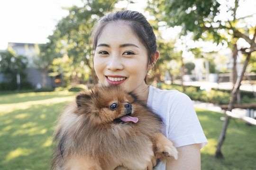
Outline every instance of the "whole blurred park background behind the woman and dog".
[[[152, 85], [217, 106], [256, 103], [254, 0], [9, 0], [0, 8], [0, 169], [50, 169], [54, 122], [78, 91], [97, 83], [91, 28], [111, 11], [140, 11], [154, 27], [161, 57]], [[209, 140], [202, 169], [256, 169], [256, 129], [238, 119], [229, 123], [224, 159], [215, 158], [225, 115], [209, 109], [196, 108]]]

